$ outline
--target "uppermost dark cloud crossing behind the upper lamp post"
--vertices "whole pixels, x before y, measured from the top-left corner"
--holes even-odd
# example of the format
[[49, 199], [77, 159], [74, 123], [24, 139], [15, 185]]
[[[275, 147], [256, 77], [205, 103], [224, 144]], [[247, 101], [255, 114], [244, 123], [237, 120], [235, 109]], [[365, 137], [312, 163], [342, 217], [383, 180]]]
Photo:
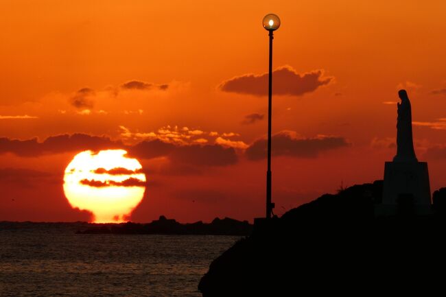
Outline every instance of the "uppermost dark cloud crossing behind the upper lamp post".
[[[333, 77], [322, 77], [322, 70], [299, 74], [290, 66], [280, 67], [273, 71], [272, 78], [275, 95], [301, 96], [316, 91], [320, 86], [329, 84]], [[261, 75], [246, 74], [222, 82], [220, 90], [225, 92], [249, 94], [256, 96], [268, 95], [268, 73]]]

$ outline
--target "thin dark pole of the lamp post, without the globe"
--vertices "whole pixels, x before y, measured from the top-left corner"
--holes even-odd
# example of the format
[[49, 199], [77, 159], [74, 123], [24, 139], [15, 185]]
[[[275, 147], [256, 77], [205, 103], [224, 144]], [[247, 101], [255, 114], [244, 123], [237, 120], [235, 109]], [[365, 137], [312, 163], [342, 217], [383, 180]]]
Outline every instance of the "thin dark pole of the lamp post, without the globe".
[[272, 30], [270, 32], [270, 73], [268, 79], [268, 169], [266, 171], [266, 218], [270, 219], [274, 203], [271, 202], [271, 110], [272, 110]]

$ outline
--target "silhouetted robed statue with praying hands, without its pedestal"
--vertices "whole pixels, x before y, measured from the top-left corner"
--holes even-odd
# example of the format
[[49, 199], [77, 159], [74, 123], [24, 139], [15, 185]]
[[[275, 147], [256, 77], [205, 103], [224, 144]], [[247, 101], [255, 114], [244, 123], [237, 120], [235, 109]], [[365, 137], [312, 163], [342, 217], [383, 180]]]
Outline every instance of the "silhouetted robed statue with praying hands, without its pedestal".
[[408, 93], [406, 90], [400, 90], [398, 96], [401, 103], [398, 103], [397, 155], [393, 158], [393, 162], [416, 162], [412, 140], [412, 111]]

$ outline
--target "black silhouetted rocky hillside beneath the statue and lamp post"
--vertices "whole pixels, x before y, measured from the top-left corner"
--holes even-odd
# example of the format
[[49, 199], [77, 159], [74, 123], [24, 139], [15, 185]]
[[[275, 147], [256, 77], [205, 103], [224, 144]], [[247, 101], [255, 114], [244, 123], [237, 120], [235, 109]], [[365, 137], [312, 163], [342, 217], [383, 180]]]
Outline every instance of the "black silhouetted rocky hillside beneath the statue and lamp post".
[[355, 185], [257, 222], [211, 263], [198, 289], [203, 297], [361, 296], [441, 285], [446, 189], [434, 193], [430, 215], [401, 199], [396, 215], [379, 217], [382, 190], [382, 180]]

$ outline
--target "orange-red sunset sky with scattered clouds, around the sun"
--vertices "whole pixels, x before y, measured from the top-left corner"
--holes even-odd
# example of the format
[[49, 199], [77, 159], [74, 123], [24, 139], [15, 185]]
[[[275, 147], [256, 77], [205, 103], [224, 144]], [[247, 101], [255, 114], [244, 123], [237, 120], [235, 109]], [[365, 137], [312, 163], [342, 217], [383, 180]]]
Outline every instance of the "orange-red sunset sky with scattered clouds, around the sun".
[[134, 222], [281, 215], [373, 182], [396, 153], [397, 91], [431, 190], [446, 187], [446, 2], [22, 1], [0, 11], [0, 221], [87, 221], [63, 190], [84, 150], [137, 158]]

